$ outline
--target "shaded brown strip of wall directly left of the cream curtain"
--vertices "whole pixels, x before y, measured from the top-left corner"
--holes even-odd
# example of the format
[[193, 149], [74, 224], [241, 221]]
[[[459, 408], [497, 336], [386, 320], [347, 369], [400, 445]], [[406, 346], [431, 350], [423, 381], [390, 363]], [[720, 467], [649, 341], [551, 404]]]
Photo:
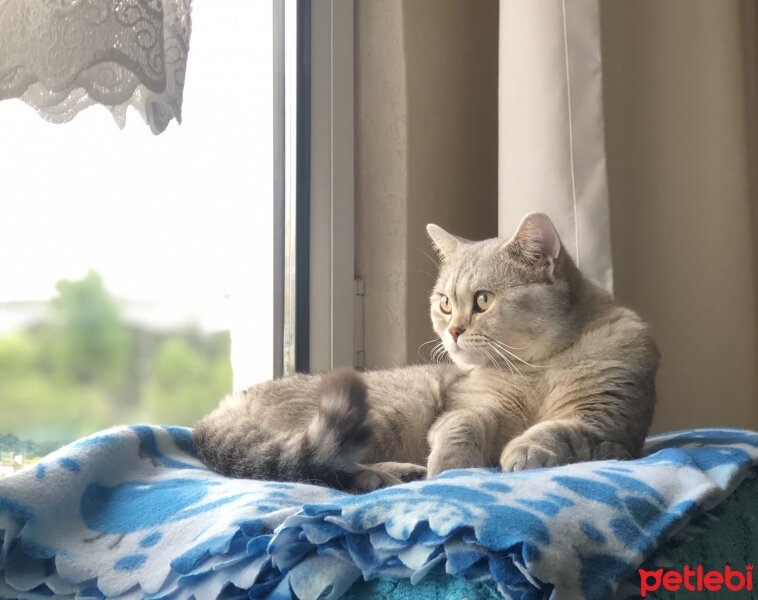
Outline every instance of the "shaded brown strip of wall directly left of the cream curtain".
[[435, 338], [436, 280], [426, 224], [469, 239], [497, 236], [498, 3], [404, 4], [408, 90], [407, 356]]

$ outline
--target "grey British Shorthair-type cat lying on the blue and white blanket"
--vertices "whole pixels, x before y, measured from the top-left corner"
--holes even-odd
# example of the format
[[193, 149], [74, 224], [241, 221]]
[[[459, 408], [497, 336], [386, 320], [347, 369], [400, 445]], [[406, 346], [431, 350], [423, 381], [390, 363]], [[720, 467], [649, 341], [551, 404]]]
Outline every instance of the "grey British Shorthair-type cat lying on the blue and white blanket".
[[659, 354], [645, 323], [586, 279], [547, 215], [510, 240], [427, 226], [430, 313], [452, 364], [295, 375], [196, 423], [210, 468], [366, 492], [456, 468], [639, 456]]

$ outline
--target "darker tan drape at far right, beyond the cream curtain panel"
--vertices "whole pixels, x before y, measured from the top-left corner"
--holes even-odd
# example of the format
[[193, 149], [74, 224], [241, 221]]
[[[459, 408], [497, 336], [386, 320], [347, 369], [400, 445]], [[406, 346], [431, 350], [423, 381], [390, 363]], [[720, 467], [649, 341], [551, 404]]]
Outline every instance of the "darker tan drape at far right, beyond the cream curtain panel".
[[601, 5], [615, 288], [663, 356], [654, 431], [758, 429], [746, 8]]

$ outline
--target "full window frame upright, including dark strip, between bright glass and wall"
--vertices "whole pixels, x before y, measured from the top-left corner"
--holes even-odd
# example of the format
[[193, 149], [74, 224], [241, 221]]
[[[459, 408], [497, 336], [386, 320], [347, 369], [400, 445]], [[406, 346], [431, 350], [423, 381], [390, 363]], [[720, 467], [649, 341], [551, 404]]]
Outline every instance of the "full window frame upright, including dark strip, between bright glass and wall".
[[[275, 116], [281, 137], [275, 142], [274, 226], [283, 226], [284, 240], [275, 241], [275, 266], [283, 267], [275, 271], [283, 280], [275, 282], [274, 322], [282, 340], [274, 340], [275, 376], [358, 364], [354, 2], [286, 0], [280, 12], [275, 56], [283, 53], [285, 89], [281, 97], [275, 91], [275, 114], [283, 116]], [[287, 38], [293, 17], [294, 44]]]

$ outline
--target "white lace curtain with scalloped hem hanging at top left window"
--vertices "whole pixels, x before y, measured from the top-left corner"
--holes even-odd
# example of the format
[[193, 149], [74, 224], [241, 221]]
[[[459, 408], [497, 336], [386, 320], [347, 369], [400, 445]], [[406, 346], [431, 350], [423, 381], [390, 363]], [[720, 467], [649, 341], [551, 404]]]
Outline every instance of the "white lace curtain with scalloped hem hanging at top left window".
[[120, 127], [181, 123], [191, 0], [0, 0], [0, 100], [64, 123], [96, 103]]

